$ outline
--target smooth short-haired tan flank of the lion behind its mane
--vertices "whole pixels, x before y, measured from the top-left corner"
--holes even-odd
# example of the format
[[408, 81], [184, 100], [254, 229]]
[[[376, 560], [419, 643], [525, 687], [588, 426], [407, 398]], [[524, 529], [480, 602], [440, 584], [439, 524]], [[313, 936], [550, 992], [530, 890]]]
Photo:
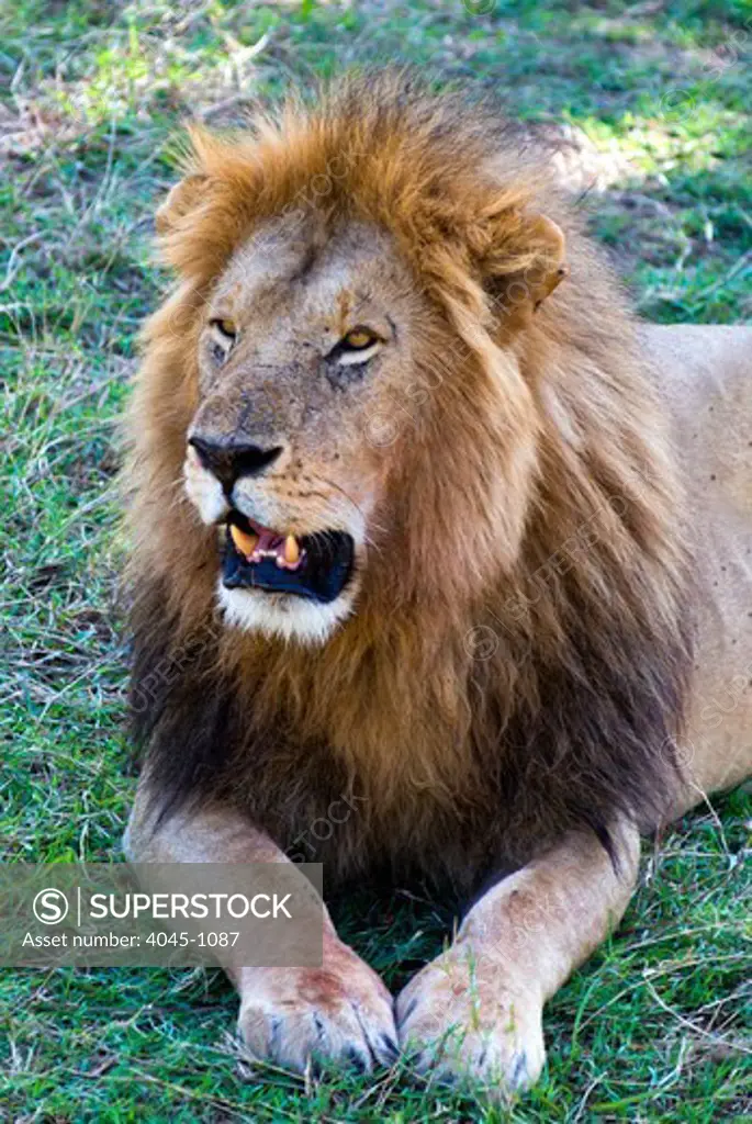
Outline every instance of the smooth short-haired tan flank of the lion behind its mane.
[[667, 818], [752, 771], [752, 328], [645, 326], [691, 497], [698, 645]]

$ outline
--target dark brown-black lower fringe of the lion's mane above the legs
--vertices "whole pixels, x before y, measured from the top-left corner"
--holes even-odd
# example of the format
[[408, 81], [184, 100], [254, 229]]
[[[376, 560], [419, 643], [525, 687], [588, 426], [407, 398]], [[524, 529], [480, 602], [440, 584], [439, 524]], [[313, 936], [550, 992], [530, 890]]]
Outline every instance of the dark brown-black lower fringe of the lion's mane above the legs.
[[[157, 605], [164, 605], [158, 595]], [[296, 745], [291, 716], [300, 699], [290, 685], [277, 695], [273, 725], [264, 725], [248, 709], [252, 685], [220, 669], [216, 641], [171, 652], [174, 623], [154, 609], [145, 619], [134, 662], [134, 733], [148, 745], [160, 817], [209, 801], [237, 807], [298, 861], [324, 861], [328, 885], [386, 872], [469, 895], [568, 831], [595, 832], [617, 863], [615, 817], [650, 827], [676, 787], [683, 652], [663, 664], [650, 658], [646, 637], [626, 628], [606, 640], [592, 635], [586, 618], [573, 622], [567, 663], [536, 669], [540, 706], [523, 703], [509, 713], [495, 689], [496, 661], [470, 669], [474, 790], [468, 794], [464, 777], [450, 804], [406, 794], [409, 815], [399, 808], [390, 823], [368, 770], [351, 776], [320, 740]], [[163, 691], [145, 692], [139, 685], [154, 682], [155, 668]], [[357, 689], [368, 665], [355, 673]], [[270, 682], [260, 676], [254, 686], [263, 694]], [[303, 695], [311, 689], [303, 677], [297, 686]], [[317, 832], [343, 798], [354, 812], [335, 816], [332, 837], [329, 827]]]

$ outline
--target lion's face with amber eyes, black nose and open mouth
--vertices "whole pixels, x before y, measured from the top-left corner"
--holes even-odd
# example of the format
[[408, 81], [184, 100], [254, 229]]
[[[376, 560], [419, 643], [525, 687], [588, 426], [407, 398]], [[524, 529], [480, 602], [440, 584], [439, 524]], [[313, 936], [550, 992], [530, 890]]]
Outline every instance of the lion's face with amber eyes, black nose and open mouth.
[[396, 404], [431, 311], [388, 236], [263, 224], [203, 309], [184, 478], [218, 528], [228, 623], [324, 641], [383, 528]]

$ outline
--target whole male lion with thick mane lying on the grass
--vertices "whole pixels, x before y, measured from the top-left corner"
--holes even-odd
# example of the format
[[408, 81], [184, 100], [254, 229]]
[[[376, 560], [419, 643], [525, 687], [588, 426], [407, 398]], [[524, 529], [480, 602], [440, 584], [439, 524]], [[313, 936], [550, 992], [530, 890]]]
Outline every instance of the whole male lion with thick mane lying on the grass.
[[399, 1041], [529, 1084], [638, 833], [750, 771], [752, 332], [636, 324], [550, 167], [491, 110], [370, 75], [194, 130], [157, 215], [179, 282], [132, 414], [128, 853], [305, 839], [328, 885], [472, 903], [396, 1004], [328, 914], [321, 968], [229, 954], [283, 1066]]

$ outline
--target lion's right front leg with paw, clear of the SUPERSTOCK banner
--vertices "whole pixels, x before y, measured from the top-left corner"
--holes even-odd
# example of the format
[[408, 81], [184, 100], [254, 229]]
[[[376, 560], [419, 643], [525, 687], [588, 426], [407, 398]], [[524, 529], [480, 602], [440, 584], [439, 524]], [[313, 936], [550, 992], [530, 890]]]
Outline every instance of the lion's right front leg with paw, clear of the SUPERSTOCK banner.
[[614, 839], [618, 871], [595, 836], [570, 835], [475, 903], [450, 949], [397, 1000], [400, 1042], [417, 1049], [419, 1068], [499, 1093], [537, 1079], [544, 1003], [632, 896], [640, 839], [627, 827]]

